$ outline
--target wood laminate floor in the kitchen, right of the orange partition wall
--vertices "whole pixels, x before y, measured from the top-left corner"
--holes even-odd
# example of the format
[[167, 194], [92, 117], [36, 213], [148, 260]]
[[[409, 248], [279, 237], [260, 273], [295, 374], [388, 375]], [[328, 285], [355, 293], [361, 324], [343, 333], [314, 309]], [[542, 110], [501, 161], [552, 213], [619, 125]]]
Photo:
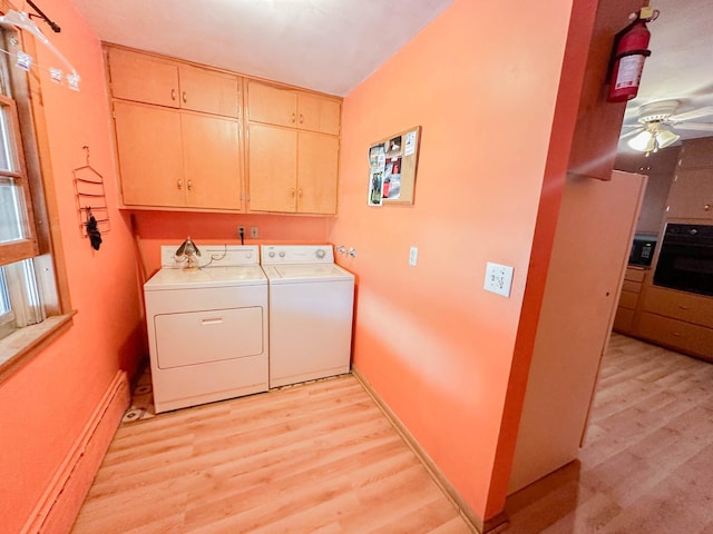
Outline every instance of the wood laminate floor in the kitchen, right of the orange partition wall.
[[506, 511], [507, 534], [713, 534], [713, 364], [615, 334], [579, 461]]

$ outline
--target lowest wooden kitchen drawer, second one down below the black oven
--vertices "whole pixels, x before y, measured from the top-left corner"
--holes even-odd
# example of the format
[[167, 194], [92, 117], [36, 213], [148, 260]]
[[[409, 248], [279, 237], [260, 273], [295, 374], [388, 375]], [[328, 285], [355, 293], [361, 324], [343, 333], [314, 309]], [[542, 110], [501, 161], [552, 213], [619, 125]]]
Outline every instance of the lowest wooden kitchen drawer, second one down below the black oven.
[[634, 334], [683, 353], [713, 359], [711, 328], [644, 313]]

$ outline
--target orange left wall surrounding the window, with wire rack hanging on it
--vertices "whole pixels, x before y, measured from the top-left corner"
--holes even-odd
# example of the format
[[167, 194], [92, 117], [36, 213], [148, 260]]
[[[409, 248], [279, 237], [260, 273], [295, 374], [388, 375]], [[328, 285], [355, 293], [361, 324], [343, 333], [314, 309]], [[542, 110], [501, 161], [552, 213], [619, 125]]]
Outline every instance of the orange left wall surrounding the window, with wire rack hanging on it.
[[[41, 47], [33, 69], [42, 83], [74, 326], [0, 384], [0, 532], [16, 533], [65, 459], [119, 368], [133, 373], [143, 354], [143, 323], [133, 240], [116, 209], [114, 162], [99, 42], [69, 0], [51, 13], [61, 33], [42, 27], [81, 76], [80, 92], [49, 80], [59, 66]], [[37, 20], [37, 19], [36, 19]], [[38, 22], [42, 26], [41, 22]], [[99, 251], [80, 236], [72, 170], [85, 165], [104, 175], [111, 229]]]

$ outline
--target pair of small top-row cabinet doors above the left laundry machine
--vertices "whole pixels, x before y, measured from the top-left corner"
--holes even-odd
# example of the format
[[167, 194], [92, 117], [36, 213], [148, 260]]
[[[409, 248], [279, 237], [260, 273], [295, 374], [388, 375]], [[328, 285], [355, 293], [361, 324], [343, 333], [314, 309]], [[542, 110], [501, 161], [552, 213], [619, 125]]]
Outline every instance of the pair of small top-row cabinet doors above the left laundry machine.
[[240, 118], [237, 76], [121, 48], [108, 63], [114, 98]]

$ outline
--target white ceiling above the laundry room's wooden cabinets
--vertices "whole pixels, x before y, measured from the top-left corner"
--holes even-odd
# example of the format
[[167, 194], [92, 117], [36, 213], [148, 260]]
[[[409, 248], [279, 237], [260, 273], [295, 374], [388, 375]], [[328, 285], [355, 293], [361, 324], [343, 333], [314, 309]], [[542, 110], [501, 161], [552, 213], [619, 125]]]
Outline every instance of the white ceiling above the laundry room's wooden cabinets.
[[345, 96], [452, 0], [72, 2], [104, 41]]

